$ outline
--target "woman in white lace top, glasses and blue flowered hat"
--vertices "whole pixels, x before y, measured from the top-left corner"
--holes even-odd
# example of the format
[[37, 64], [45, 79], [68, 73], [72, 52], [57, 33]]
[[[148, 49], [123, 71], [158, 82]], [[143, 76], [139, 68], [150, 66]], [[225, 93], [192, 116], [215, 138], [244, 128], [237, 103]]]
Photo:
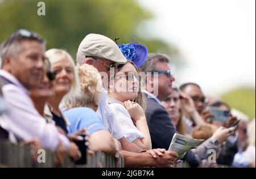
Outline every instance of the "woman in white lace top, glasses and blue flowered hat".
[[150, 133], [143, 110], [146, 104], [138, 70], [147, 58], [147, 48], [138, 43], [118, 46], [128, 61], [125, 65], [118, 65], [118, 72], [110, 79], [108, 103], [126, 139], [150, 150]]

